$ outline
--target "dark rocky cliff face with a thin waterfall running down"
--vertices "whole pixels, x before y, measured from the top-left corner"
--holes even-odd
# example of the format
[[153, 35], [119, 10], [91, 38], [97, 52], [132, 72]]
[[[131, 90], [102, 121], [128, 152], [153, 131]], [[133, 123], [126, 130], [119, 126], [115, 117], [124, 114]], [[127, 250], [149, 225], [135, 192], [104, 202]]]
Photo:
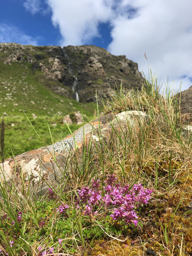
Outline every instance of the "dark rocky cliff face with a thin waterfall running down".
[[144, 81], [137, 63], [93, 45], [61, 48], [1, 43], [0, 59], [5, 65], [26, 65], [46, 87], [80, 102], [95, 102], [96, 89], [106, 99], [121, 82], [129, 90], [140, 89]]

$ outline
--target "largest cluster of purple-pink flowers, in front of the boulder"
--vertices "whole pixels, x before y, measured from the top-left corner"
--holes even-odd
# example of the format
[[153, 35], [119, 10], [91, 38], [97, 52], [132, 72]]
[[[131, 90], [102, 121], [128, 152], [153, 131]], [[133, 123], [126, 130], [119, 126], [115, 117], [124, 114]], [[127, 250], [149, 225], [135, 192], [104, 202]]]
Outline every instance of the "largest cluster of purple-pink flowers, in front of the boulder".
[[140, 206], [146, 205], [151, 198], [152, 190], [144, 189], [141, 184], [134, 184], [132, 188], [129, 185], [122, 186], [117, 183], [117, 178], [110, 175], [105, 181], [103, 189], [100, 186], [100, 180], [93, 181], [92, 187], [82, 187], [78, 190], [76, 205], [81, 208], [84, 215], [97, 215], [97, 206], [110, 209], [113, 214], [110, 216], [113, 220], [123, 220], [126, 225], [134, 223], [136, 226], [138, 221], [137, 210]]

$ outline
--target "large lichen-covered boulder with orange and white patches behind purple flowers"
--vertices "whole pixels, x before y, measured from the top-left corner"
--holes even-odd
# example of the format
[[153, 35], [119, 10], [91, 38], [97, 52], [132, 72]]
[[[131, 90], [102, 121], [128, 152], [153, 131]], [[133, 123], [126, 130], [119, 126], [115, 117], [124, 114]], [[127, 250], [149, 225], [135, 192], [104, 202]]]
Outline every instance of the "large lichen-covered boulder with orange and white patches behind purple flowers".
[[[91, 143], [89, 149], [94, 154], [102, 143], [106, 145], [114, 140], [113, 145], [120, 145], [119, 136], [123, 140], [123, 132], [129, 125], [134, 127], [138, 123], [136, 120], [143, 122], [147, 120], [146, 117], [142, 111], [103, 115], [99, 120], [80, 127], [61, 142], [6, 159], [0, 164], [1, 180], [5, 179], [9, 186], [14, 181], [15, 188], [21, 194], [25, 195], [28, 190], [36, 197], [42, 196], [48, 191], [49, 186], [56, 189], [70, 179], [73, 160], [78, 159], [78, 163], [81, 164], [84, 147], [90, 146]], [[23, 185], [26, 190], [23, 189]]]

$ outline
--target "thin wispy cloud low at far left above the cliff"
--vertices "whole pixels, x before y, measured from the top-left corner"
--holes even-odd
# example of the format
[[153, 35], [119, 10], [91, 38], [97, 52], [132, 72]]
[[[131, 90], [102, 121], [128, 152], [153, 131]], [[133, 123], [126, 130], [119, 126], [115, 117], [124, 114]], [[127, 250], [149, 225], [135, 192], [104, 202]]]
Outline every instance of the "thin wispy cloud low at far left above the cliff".
[[24, 34], [18, 28], [0, 23], [0, 42], [15, 42], [22, 45], [38, 45], [37, 39]]

